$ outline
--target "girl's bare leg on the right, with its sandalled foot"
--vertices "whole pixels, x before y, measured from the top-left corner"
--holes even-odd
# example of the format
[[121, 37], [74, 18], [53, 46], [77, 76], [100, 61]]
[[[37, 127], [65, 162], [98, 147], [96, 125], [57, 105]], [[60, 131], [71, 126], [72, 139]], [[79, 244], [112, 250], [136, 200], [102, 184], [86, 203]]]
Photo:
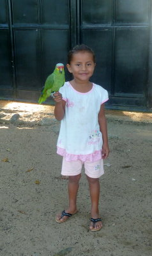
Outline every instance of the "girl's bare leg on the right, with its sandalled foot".
[[[94, 179], [89, 176], [87, 176], [87, 180], [89, 182], [89, 191], [90, 191], [90, 196], [91, 196], [91, 218], [97, 219], [100, 218], [99, 215], [99, 209], [98, 209], [98, 203], [99, 203], [99, 196], [100, 196], [100, 183], [99, 179]], [[102, 227], [102, 221], [98, 221], [93, 224], [91, 221], [90, 229], [95, 228], [101, 228]]]

